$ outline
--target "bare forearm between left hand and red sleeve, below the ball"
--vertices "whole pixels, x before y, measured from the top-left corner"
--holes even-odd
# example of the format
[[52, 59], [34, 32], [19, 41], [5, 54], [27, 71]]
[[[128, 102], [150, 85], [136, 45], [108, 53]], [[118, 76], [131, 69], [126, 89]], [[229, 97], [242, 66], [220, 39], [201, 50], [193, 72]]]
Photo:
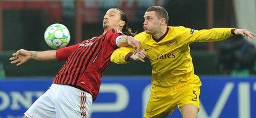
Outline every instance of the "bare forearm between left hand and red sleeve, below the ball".
[[56, 50], [48, 50], [48, 51], [30, 51], [30, 58], [33, 60], [39, 60], [39, 61], [51, 61], [51, 60], [57, 60], [56, 58]]

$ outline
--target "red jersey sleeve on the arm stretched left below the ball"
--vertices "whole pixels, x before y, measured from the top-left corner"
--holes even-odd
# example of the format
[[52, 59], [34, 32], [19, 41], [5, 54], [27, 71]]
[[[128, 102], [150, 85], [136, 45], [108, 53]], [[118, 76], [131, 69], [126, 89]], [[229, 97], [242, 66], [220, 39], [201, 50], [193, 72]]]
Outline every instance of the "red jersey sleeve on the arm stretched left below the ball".
[[58, 49], [56, 52], [56, 58], [58, 61], [67, 60], [72, 52], [79, 47], [80, 44], [71, 45], [69, 47], [64, 47]]

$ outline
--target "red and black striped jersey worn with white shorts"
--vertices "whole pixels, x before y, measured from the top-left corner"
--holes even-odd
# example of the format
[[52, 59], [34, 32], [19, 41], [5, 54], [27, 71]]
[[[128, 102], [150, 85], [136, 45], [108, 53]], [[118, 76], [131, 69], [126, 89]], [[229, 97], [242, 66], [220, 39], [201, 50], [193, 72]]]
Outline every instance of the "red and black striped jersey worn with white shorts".
[[118, 48], [116, 39], [124, 34], [118, 29], [109, 29], [80, 44], [58, 49], [57, 59], [66, 60], [54, 78], [54, 84], [66, 84], [89, 92], [96, 99], [100, 90], [103, 71], [110, 65], [111, 54]]

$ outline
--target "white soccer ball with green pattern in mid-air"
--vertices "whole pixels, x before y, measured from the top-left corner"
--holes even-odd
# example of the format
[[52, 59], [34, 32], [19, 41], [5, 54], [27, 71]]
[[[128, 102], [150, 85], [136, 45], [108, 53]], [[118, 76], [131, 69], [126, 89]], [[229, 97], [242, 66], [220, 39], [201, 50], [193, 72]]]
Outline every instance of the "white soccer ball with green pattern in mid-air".
[[50, 25], [45, 31], [45, 42], [53, 49], [65, 47], [70, 40], [69, 29], [65, 25], [56, 23]]

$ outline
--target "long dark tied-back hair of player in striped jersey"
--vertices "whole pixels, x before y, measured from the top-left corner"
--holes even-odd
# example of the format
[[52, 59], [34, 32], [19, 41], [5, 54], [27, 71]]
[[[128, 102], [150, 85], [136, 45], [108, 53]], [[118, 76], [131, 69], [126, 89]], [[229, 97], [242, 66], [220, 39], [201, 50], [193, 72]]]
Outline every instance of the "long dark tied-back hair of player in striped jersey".
[[121, 20], [126, 23], [126, 25], [124, 25], [124, 27], [122, 28], [122, 33], [126, 34], [127, 36], [135, 36], [137, 34], [137, 31], [135, 33], [132, 33], [132, 28], [128, 27], [128, 19], [126, 17], [126, 14], [124, 14], [124, 12], [122, 12], [121, 9], [118, 9], [118, 8], [114, 8], [114, 9], [120, 11]]

